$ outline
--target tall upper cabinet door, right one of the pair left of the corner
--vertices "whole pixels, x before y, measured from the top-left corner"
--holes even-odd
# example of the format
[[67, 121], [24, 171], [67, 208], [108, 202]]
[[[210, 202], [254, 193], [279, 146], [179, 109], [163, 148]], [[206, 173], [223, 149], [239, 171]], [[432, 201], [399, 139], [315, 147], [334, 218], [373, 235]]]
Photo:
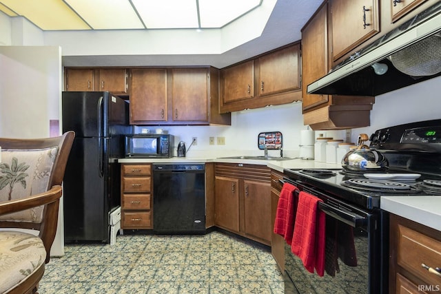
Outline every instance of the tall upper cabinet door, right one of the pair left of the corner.
[[172, 70], [172, 105], [174, 121], [208, 121], [207, 68]]

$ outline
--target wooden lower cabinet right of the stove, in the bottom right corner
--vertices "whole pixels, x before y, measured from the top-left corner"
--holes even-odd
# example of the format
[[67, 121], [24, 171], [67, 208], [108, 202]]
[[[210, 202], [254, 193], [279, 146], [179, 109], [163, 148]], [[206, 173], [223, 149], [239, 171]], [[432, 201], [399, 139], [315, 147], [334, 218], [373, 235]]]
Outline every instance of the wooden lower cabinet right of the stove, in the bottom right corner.
[[393, 214], [389, 231], [389, 293], [441, 293], [441, 232]]

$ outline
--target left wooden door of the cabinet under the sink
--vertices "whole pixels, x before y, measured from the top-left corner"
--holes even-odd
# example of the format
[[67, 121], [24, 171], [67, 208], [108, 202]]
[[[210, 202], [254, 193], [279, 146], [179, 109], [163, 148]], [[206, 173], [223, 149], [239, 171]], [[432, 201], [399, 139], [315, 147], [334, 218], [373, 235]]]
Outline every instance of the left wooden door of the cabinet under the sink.
[[216, 176], [214, 180], [214, 222], [217, 226], [239, 231], [239, 180]]

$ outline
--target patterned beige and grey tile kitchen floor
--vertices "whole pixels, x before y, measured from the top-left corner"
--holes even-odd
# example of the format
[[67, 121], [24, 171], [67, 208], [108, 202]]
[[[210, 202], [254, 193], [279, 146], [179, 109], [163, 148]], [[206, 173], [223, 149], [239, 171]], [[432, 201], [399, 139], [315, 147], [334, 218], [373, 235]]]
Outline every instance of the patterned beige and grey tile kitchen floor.
[[265, 246], [234, 235], [118, 235], [116, 244], [68, 244], [40, 282], [48, 293], [284, 293]]

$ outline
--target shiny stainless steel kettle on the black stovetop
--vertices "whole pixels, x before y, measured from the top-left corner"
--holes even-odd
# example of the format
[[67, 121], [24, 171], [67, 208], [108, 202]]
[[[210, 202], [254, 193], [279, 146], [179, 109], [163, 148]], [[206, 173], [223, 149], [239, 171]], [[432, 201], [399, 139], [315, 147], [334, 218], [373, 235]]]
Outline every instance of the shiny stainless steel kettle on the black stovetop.
[[342, 159], [342, 167], [351, 171], [384, 171], [389, 167], [387, 158], [379, 151], [365, 145], [367, 134], [358, 136], [358, 146], [351, 149]]

